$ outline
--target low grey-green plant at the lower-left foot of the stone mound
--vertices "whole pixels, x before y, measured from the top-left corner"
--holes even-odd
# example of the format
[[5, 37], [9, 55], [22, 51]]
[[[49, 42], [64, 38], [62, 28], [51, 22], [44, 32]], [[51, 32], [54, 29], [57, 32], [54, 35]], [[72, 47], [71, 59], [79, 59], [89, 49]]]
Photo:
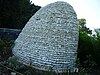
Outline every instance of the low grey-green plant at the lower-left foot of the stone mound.
[[[23, 75], [22, 73], [20, 73], [20, 71], [23, 72], [25, 70], [25, 66], [23, 64], [19, 63], [15, 56], [9, 57], [8, 60], [6, 60], [6, 61], [1, 61], [0, 66], [1, 66], [0, 68], [5, 70], [5, 75], [7, 73], [6, 71], [9, 71], [9, 73], [15, 72], [18, 75]], [[7, 73], [7, 75], [8, 75], [8, 73]]]

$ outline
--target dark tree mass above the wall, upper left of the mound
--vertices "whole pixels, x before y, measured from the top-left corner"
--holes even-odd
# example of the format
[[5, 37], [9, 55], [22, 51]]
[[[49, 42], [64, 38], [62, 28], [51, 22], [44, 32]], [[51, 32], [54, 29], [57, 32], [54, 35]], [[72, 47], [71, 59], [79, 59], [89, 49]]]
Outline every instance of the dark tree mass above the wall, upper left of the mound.
[[30, 0], [0, 0], [0, 27], [23, 28], [39, 9]]

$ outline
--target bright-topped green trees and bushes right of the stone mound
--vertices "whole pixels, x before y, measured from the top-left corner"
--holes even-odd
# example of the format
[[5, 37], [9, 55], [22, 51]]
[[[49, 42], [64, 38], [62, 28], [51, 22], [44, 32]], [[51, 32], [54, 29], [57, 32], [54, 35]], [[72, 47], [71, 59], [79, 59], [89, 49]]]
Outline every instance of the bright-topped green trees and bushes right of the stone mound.
[[93, 37], [92, 30], [85, 24], [85, 19], [79, 19], [78, 59], [83, 68], [92, 71], [96, 65], [100, 65], [100, 36], [95, 34]]

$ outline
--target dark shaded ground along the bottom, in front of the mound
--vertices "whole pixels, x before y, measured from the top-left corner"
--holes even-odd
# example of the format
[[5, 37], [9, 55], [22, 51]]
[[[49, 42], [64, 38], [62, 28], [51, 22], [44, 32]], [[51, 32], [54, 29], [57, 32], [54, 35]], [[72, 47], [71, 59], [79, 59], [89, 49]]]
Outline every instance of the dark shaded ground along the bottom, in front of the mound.
[[[31, 69], [29, 67], [26, 67], [26, 69], [27, 69], [27, 71], [19, 72], [21, 74], [16, 73], [16, 75], [81, 75], [81, 74], [78, 74], [78, 73], [56, 74], [56, 73], [53, 73], [53, 72], [45, 72], [45, 71], [39, 71], [39, 70], [36, 70], [36, 69]], [[0, 75], [11, 75], [11, 72], [13, 72], [13, 71], [0, 66]], [[90, 74], [85, 73], [85, 74], [82, 74], [82, 75], [100, 75], [100, 70], [94, 70]]]

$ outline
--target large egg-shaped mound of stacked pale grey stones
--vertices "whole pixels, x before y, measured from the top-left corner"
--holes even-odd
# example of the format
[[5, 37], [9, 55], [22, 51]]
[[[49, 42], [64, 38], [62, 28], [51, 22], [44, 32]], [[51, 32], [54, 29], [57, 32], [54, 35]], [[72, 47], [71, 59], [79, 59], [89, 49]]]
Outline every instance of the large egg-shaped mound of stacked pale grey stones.
[[31, 17], [15, 41], [13, 54], [24, 64], [57, 73], [73, 71], [78, 46], [78, 21], [73, 7], [55, 2]]

